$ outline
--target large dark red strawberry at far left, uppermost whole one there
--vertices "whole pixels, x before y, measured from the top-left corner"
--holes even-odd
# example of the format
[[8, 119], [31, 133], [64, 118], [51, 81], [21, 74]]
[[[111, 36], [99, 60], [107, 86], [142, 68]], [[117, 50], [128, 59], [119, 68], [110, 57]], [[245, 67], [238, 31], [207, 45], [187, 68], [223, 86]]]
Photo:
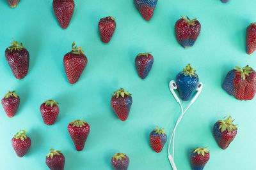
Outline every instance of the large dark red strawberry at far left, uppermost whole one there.
[[[13, 40], [13, 39], [12, 39]], [[11, 46], [5, 50], [5, 58], [17, 79], [22, 79], [28, 73], [29, 53], [22, 43], [13, 40]]]

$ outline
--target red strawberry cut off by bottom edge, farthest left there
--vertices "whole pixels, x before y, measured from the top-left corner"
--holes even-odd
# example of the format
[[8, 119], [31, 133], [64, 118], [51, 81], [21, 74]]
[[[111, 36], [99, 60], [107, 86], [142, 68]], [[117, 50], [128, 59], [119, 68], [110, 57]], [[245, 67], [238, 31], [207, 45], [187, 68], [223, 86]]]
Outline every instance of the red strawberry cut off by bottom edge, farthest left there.
[[45, 159], [45, 163], [51, 170], [63, 170], [65, 166], [65, 157], [61, 150], [51, 149]]

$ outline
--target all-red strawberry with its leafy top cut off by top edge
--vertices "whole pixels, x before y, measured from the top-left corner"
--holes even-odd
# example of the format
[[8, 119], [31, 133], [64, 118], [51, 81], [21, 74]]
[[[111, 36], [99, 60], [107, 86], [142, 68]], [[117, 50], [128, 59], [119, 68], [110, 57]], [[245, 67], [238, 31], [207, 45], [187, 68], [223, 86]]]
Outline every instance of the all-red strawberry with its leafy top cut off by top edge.
[[61, 28], [67, 29], [75, 8], [74, 0], [53, 0], [52, 6]]

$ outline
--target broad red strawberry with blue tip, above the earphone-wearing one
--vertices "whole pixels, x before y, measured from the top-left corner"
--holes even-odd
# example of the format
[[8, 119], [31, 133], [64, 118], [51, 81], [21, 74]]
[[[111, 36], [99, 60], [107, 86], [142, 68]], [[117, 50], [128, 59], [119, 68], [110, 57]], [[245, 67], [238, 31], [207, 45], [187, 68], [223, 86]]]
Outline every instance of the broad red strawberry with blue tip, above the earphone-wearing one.
[[190, 20], [188, 17], [181, 17], [175, 24], [175, 35], [181, 46], [187, 48], [195, 44], [201, 31], [201, 24], [198, 20]]

